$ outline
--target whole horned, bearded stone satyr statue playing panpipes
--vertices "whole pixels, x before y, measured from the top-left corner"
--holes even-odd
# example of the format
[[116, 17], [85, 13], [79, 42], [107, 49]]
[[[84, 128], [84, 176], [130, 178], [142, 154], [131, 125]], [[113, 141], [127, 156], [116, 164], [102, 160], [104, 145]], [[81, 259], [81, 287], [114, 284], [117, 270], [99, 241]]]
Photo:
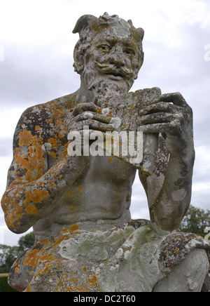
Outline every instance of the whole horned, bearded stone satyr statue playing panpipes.
[[[9, 284], [26, 292], [201, 291], [209, 242], [176, 232], [190, 205], [192, 109], [180, 93], [129, 92], [144, 62], [144, 30], [131, 20], [84, 15], [73, 33], [80, 88], [30, 107], [15, 131], [1, 206], [8, 228], [33, 226], [36, 242], [15, 261]], [[143, 133], [143, 158], [87, 154], [84, 126], [88, 135]], [[82, 154], [71, 154], [73, 131]], [[131, 220], [137, 171], [151, 221]]]

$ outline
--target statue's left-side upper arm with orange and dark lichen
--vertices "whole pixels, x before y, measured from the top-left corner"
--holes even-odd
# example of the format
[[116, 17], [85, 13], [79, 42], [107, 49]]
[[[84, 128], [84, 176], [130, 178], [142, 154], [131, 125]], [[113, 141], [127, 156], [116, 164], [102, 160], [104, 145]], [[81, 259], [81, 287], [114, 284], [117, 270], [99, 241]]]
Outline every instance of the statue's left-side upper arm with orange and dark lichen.
[[47, 171], [44, 140], [39, 128], [36, 120], [31, 121], [31, 109], [27, 109], [15, 130], [13, 162], [8, 171], [7, 187], [34, 182]]

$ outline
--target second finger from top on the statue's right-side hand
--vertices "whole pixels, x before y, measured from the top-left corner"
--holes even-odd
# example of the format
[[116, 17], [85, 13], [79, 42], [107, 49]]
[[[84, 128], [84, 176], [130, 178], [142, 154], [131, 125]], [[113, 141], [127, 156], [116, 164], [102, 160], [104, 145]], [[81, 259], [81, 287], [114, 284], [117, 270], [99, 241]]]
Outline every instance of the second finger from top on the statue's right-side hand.
[[146, 114], [154, 114], [158, 112], [169, 112], [175, 114], [178, 110], [179, 109], [176, 107], [176, 105], [167, 104], [165, 102], [158, 102], [152, 105], [148, 105], [144, 109], [141, 109], [139, 115], [145, 116]]

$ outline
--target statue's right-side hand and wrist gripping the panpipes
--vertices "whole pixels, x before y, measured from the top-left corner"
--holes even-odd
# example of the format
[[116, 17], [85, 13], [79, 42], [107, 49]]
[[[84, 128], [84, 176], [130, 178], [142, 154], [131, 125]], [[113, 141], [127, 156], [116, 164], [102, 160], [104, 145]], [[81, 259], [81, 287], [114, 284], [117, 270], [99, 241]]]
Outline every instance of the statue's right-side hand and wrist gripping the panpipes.
[[162, 133], [171, 154], [193, 149], [193, 111], [181, 93], [168, 93], [140, 112], [141, 131]]

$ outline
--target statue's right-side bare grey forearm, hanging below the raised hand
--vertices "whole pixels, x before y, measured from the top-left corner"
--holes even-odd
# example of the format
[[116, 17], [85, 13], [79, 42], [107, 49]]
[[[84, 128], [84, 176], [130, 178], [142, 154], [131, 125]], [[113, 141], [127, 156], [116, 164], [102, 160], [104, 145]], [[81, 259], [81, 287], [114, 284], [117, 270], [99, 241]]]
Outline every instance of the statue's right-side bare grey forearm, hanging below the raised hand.
[[162, 230], [177, 230], [190, 205], [194, 149], [171, 154], [160, 194], [150, 208], [151, 221]]

